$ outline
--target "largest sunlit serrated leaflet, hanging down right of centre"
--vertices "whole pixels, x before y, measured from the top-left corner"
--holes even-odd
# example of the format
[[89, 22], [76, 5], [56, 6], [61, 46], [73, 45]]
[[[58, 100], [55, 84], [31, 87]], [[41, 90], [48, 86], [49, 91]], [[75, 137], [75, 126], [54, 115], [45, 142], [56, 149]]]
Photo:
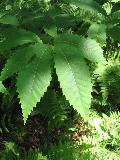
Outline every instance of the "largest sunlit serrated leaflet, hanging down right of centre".
[[74, 54], [72, 47], [56, 46], [55, 53], [55, 68], [63, 94], [86, 120], [92, 91], [88, 66], [80, 54]]

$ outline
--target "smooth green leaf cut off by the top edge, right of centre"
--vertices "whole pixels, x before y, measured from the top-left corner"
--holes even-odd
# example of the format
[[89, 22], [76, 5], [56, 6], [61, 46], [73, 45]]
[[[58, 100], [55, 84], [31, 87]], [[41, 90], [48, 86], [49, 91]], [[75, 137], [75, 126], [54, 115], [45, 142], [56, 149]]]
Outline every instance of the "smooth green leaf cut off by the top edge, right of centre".
[[69, 2], [81, 9], [106, 15], [105, 10], [94, 0], [69, 0]]

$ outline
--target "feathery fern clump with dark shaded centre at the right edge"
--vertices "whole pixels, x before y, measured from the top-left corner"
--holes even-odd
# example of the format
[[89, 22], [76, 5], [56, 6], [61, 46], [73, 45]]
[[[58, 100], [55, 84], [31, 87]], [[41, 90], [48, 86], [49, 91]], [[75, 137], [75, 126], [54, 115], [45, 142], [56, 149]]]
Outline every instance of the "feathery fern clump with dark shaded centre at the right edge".
[[98, 82], [100, 86], [100, 92], [102, 93], [102, 105], [119, 105], [119, 62], [109, 61], [106, 65], [99, 65], [94, 71], [94, 77], [95, 81]]

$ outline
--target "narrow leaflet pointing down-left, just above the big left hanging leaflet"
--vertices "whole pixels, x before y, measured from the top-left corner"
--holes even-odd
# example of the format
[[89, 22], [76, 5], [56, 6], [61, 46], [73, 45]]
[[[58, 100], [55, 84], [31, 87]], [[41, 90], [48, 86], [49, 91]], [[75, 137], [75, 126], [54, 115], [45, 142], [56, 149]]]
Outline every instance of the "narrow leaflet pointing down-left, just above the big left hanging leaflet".
[[46, 49], [50, 50], [50, 47], [38, 43], [16, 50], [7, 60], [7, 63], [1, 72], [0, 80], [3, 81], [14, 73], [22, 71], [34, 55], [39, 57], [43, 52], [45, 52]]

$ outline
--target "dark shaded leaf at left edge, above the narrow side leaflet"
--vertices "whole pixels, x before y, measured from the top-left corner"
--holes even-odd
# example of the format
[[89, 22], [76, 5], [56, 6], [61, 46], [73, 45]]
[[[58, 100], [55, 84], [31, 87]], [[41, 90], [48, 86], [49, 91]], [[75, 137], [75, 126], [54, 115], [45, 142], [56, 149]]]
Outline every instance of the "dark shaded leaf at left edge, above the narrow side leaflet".
[[0, 53], [31, 42], [41, 41], [36, 34], [30, 31], [10, 26], [0, 27]]

